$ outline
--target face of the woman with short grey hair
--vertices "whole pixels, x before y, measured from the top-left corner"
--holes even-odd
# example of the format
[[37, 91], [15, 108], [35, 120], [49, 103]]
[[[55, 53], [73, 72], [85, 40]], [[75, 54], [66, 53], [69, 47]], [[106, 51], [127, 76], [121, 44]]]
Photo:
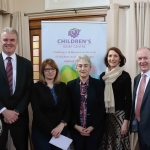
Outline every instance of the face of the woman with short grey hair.
[[88, 61], [81, 59], [77, 63], [76, 70], [78, 71], [81, 78], [88, 78], [91, 70], [91, 65]]

